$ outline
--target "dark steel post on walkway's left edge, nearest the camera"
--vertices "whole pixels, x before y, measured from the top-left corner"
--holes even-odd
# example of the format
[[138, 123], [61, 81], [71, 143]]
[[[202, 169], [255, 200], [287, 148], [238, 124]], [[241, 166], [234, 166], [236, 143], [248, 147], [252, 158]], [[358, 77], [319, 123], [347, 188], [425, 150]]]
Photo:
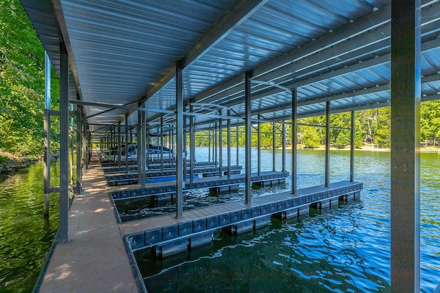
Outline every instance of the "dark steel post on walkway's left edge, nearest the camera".
[[60, 226], [58, 241], [69, 241], [69, 57], [60, 44]]

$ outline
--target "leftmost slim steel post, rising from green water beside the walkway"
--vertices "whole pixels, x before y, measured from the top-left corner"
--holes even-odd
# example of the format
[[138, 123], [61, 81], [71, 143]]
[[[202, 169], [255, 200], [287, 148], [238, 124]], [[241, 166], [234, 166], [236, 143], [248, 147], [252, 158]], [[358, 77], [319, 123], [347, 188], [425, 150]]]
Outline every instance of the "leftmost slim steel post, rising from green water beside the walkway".
[[50, 194], [50, 60], [44, 52], [45, 65], [45, 110], [44, 110], [44, 200], [43, 215], [49, 215]]

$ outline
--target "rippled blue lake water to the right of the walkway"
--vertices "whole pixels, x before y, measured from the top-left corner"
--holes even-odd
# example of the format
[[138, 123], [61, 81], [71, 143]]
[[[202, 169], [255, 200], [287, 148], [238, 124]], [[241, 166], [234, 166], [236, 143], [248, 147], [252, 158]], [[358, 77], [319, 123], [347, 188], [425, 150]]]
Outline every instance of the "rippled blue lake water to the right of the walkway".
[[[202, 148], [197, 152], [199, 161], [207, 160]], [[287, 170], [290, 160], [288, 154]], [[272, 169], [272, 151], [263, 151], [263, 161], [263, 171]], [[440, 282], [439, 161], [438, 154], [421, 155], [422, 292]], [[272, 220], [238, 237], [218, 232], [212, 244], [164, 261], [148, 249], [137, 251], [148, 292], [389, 292], [390, 154], [356, 152], [355, 165], [355, 180], [364, 183], [356, 202], [298, 220]], [[332, 182], [348, 180], [349, 152], [331, 152], [331, 169]], [[322, 151], [298, 152], [299, 188], [323, 184], [322, 174]]]

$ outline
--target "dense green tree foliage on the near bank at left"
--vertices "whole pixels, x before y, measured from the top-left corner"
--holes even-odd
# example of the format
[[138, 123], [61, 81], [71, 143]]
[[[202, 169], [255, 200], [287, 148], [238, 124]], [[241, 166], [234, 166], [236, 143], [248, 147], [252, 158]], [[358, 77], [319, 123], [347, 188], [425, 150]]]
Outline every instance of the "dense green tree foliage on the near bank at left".
[[41, 154], [44, 49], [18, 0], [0, 6], [0, 149]]

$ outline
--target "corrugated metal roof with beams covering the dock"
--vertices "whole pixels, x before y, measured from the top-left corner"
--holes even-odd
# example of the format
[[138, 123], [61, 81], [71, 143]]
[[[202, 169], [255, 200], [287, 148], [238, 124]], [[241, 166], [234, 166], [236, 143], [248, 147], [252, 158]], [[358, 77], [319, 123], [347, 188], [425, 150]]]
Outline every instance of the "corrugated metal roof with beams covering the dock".
[[[228, 106], [240, 116], [248, 70], [255, 81], [266, 82], [252, 83], [255, 118], [286, 119], [292, 113], [292, 94], [270, 82], [297, 89], [302, 117], [323, 113], [326, 100], [334, 111], [390, 100], [390, 1], [58, 0], [55, 11], [49, 0], [38, 7], [21, 2], [56, 67], [58, 31], [68, 38], [73, 80], [86, 102], [122, 105], [143, 99], [148, 109], [173, 110], [178, 60], [186, 62], [186, 103]], [[433, 99], [440, 92], [440, 1], [422, 3], [421, 89]], [[87, 115], [106, 109], [86, 108]], [[212, 113], [206, 107], [196, 111]], [[127, 112], [112, 110], [89, 122], [122, 121]], [[148, 121], [158, 117], [147, 113]], [[137, 124], [137, 114], [129, 124]]]

